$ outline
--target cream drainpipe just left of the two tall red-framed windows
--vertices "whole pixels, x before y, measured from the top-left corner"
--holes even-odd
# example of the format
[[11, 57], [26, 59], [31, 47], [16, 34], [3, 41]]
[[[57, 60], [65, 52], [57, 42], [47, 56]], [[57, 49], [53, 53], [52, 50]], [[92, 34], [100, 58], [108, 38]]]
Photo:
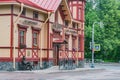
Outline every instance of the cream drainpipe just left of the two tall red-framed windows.
[[13, 30], [14, 31], [14, 35], [13, 35], [14, 36], [13, 37], [13, 41], [14, 41], [14, 43], [13, 43], [13, 69], [15, 69], [15, 45], [16, 45], [16, 43], [15, 43], [15, 39], [16, 39], [15, 33], [16, 33], [16, 23], [17, 23], [18, 19], [20, 18], [20, 15], [21, 15], [21, 13], [23, 11], [23, 6], [24, 6], [24, 4], [21, 3], [20, 13], [18, 14], [17, 18], [14, 21], [14, 30]]

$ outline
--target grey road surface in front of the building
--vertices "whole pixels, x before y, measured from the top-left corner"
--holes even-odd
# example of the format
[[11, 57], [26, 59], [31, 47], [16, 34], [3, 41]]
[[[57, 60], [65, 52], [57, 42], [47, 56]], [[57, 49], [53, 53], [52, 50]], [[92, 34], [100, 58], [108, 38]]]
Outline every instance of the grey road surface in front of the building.
[[0, 80], [120, 80], [120, 64], [96, 64], [95, 66], [102, 69], [47, 74], [0, 72]]

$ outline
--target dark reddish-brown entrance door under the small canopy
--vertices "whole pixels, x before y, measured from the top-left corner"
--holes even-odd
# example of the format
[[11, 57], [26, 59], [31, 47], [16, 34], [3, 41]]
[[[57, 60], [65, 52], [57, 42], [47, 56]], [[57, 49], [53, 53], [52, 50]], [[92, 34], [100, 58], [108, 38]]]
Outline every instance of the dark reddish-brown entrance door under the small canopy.
[[59, 64], [59, 45], [53, 44], [53, 62], [54, 66]]

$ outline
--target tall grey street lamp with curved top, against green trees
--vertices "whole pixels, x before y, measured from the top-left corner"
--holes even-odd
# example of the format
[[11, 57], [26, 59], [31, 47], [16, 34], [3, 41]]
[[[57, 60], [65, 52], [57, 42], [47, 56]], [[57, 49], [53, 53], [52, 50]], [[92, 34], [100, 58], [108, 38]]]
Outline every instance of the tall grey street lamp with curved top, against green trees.
[[99, 24], [100, 27], [102, 27], [102, 22], [94, 22], [92, 25], [92, 63], [91, 63], [91, 68], [94, 68], [94, 26], [95, 24]]

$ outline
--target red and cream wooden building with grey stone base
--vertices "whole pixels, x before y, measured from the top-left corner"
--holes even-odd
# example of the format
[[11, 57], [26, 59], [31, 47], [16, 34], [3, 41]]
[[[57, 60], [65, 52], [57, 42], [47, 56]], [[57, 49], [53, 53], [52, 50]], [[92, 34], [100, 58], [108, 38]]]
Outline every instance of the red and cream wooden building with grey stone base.
[[84, 61], [85, 0], [0, 0], [0, 70], [18, 69], [23, 56], [35, 69]]

